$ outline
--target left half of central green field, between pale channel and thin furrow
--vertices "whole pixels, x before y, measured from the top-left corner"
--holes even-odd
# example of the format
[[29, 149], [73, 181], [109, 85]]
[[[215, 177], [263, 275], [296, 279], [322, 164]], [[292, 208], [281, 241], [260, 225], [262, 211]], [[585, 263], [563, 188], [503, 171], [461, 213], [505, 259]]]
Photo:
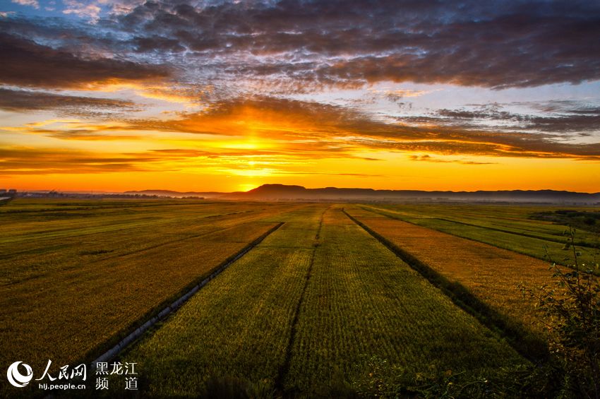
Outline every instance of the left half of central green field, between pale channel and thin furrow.
[[275, 387], [324, 210], [307, 205], [282, 215], [280, 229], [126, 354], [143, 364], [145, 395], [198, 395], [210, 374]]

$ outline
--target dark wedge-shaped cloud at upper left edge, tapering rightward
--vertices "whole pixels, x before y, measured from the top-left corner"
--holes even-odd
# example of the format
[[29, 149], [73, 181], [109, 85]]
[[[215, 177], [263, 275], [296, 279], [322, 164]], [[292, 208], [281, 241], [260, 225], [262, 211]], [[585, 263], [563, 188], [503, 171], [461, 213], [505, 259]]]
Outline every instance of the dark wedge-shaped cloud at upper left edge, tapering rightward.
[[0, 53], [0, 83], [8, 85], [80, 88], [112, 79], [143, 81], [169, 75], [163, 66], [73, 54], [6, 32], [0, 32]]

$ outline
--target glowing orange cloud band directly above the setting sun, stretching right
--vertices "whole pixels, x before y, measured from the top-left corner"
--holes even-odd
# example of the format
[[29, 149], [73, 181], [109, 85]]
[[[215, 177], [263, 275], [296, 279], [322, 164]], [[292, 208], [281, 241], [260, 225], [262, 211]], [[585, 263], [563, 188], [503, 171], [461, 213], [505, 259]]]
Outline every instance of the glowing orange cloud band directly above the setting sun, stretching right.
[[[131, 129], [243, 136], [280, 149], [352, 156], [361, 149], [495, 157], [600, 160], [600, 143], [569, 143], [560, 136], [481, 130], [427, 118], [388, 123], [353, 109], [318, 102], [254, 97], [212, 104], [178, 119], [138, 120]], [[426, 123], [424, 123], [424, 121]], [[436, 124], [438, 121], [438, 124]]]

